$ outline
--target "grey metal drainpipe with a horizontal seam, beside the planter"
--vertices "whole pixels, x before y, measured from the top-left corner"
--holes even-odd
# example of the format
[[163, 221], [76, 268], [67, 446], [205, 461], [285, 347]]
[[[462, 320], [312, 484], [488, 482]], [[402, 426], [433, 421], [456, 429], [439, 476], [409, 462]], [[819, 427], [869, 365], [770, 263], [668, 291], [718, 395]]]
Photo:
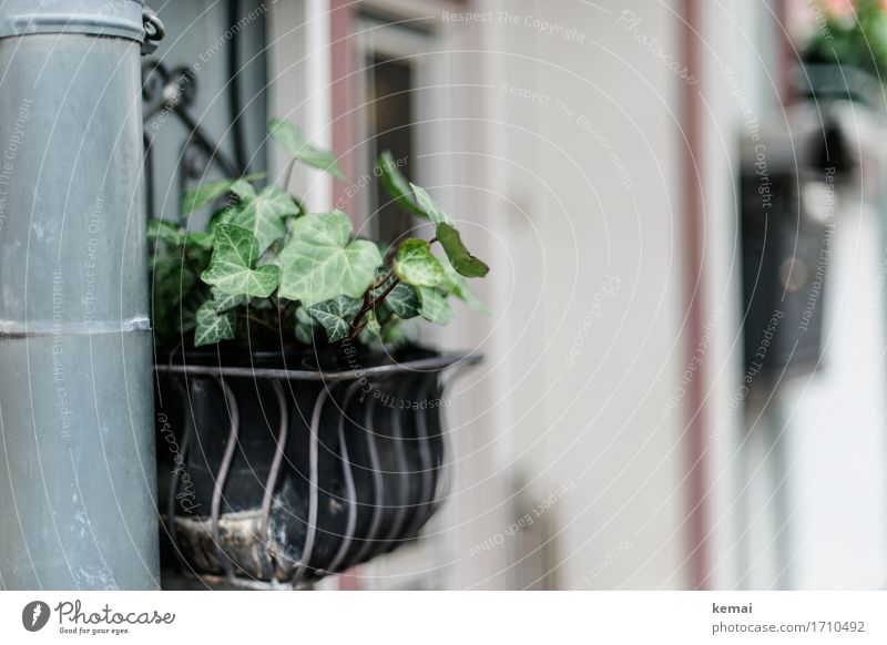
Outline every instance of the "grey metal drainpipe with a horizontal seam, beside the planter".
[[142, 0], [0, 6], [0, 587], [159, 587]]

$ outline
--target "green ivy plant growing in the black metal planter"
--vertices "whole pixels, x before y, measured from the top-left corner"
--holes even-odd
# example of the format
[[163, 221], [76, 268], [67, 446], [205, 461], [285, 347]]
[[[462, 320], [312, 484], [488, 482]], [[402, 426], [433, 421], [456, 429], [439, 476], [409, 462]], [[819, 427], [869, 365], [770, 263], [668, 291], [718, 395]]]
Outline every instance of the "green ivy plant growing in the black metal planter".
[[[335, 156], [300, 131], [274, 120], [268, 134], [303, 163], [343, 178]], [[264, 175], [207, 182], [183, 199], [182, 216], [226, 197], [206, 231], [149, 222], [152, 314], [157, 344], [174, 347], [193, 334], [195, 347], [241, 341], [251, 349], [358, 340], [406, 341], [405, 321], [446, 325], [455, 296], [482, 309], [466, 278], [489, 268], [471, 255], [458, 229], [426, 191], [407, 182], [389, 153], [378, 176], [404, 211], [428, 219], [430, 240], [408, 237], [386, 246], [356, 238], [340, 211], [308, 213]], [[442, 253], [435, 254], [439, 247]]]

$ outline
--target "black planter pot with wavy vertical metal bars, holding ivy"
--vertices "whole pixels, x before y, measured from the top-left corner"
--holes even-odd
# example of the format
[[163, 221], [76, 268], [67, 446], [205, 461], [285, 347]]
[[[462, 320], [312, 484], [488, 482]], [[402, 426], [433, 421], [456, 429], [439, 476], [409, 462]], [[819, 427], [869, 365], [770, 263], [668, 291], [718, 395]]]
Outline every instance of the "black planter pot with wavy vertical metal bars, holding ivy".
[[164, 560], [297, 585], [414, 540], [440, 496], [441, 375], [475, 360], [343, 346], [157, 365]]

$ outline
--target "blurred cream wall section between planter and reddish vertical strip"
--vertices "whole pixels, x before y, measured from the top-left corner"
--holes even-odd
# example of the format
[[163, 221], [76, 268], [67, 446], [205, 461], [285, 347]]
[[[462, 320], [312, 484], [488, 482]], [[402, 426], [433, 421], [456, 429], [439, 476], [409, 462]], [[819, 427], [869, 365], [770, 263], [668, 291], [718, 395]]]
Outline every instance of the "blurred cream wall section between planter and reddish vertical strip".
[[[477, 2], [492, 16], [467, 30], [487, 51], [465, 54], [463, 78], [482, 85], [467, 92], [482, 121], [466, 156], [486, 156], [459, 165], [466, 213], [490, 227], [472, 237], [492, 260], [495, 314], [466, 330], [488, 362], [465, 430], [490, 443], [496, 490], [516, 491], [500, 525], [475, 520], [495, 535], [543, 509], [498, 549], [517, 564], [496, 585], [689, 584], [684, 422], [661, 414], [685, 362], [680, 85], [618, 24], [621, 3], [599, 4]], [[635, 12], [680, 55], [667, 4]]]

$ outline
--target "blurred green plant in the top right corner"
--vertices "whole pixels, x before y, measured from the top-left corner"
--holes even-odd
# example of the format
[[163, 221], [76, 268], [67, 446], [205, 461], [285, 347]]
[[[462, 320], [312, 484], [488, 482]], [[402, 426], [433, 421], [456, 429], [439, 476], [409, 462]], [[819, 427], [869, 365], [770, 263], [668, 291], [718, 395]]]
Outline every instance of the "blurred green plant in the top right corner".
[[[822, 7], [824, 22], [804, 48], [804, 63], [840, 64], [887, 80], [887, 14], [881, 0], [853, 0], [850, 11]], [[846, 4], [844, 4], [846, 7]]]

